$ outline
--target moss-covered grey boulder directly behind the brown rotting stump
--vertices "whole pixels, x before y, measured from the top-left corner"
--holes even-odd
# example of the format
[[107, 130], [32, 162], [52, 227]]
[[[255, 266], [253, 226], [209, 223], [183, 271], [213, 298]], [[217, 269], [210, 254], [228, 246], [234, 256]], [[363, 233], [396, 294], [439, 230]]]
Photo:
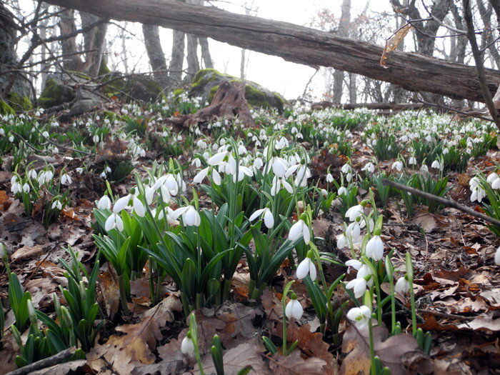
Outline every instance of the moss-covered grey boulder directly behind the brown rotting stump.
[[[241, 79], [229, 74], [222, 74], [215, 69], [201, 69], [191, 81], [189, 96], [201, 96], [206, 101], [214, 99], [216, 91], [222, 82], [241, 81]], [[283, 113], [285, 100], [276, 92], [269, 91], [255, 82], [243, 80], [245, 86], [245, 99], [250, 106], [275, 108], [279, 113]]]

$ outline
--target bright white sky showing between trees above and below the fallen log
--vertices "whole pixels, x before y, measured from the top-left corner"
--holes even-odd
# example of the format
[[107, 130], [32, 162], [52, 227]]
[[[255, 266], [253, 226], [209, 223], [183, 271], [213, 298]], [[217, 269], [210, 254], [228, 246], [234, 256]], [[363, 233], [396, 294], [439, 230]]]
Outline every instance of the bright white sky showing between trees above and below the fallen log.
[[[237, 1], [237, 0], [236, 0]], [[235, 0], [231, 2], [235, 3]], [[240, 0], [244, 4], [244, 0]], [[352, 0], [351, 18], [357, 16], [366, 6], [368, 0]], [[248, 1], [249, 4], [252, 1]], [[224, 8], [236, 13], [244, 13], [244, 8], [223, 2], [214, 3], [219, 8]], [[280, 21], [289, 21], [294, 24], [307, 26], [320, 9], [330, 9], [335, 16], [340, 16], [341, 0], [254, 0], [252, 9], [258, 9], [252, 15], [257, 15], [266, 19], [276, 19]], [[391, 11], [389, 0], [371, 0], [369, 9], [375, 11]], [[136, 69], [141, 71], [149, 69], [149, 62], [144, 51], [144, 46], [136, 38], [141, 39], [141, 29], [139, 24], [128, 24], [127, 30], [132, 31], [136, 37], [127, 44], [130, 51], [129, 66], [132, 61], [137, 61]], [[118, 29], [116, 26], [110, 26], [109, 34], [113, 34]], [[389, 35], [388, 35], [389, 36]], [[111, 38], [108, 38], [109, 40]], [[113, 46], [117, 49], [118, 41], [114, 41]], [[171, 31], [161, 30], [161, 44], [166, 58], [171, 53]], [[209, 39], [211, 56], [214, 60], [215, 69], [228, 74], [239, 76], [241, 49]], [[307, 82], [314, 74], [315, 69], [300, 64], [294, 64], [284, 61], [281, 57], [260, 54], [254, 51], [247, 51], [249, 62], [246, 70], [246, 79], [255, 81], [258, 84], [277, 91], [286, 99], [294, 99], [304, 92]], [[123, 69], [123, 68], [122, 68]], [[184, 64], [186, 69], [186, 62]], [[320, 97], [324, 89], [324, 79], [321, 74], [316, 74], [314, 81], [311, 82], [311, 88], [315, 96]]]

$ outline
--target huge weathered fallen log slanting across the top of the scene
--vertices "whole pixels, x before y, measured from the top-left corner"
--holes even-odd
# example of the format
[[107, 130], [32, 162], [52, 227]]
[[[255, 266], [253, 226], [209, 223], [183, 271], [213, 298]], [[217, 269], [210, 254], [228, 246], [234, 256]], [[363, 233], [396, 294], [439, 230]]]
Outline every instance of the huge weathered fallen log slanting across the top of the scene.
[[[484, 101], [476, 68], [421, 54], [392, 51], [381, 66], [381, 46], [282, 21], [234, 14], [174, 0], [46, 0], [111, 19], [164, 26], [223, 41], [244, 49], [281, 56], [309, 66], [391, 82], [410, 91], [428, 91], [454, 99]], [[500, 71], [486, 69], [492, 95]]]

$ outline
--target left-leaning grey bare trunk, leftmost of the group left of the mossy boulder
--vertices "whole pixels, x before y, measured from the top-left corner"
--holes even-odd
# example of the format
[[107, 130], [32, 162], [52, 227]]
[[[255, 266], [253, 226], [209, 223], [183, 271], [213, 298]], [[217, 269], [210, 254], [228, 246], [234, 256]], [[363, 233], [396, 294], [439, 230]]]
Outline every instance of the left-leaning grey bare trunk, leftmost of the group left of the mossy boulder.
[[142, 34], [154, 79], [163, 87], [169, 86], [169, 74], [166, 71], [165, 55], [161, 48], [159, 27], [142, 24]]

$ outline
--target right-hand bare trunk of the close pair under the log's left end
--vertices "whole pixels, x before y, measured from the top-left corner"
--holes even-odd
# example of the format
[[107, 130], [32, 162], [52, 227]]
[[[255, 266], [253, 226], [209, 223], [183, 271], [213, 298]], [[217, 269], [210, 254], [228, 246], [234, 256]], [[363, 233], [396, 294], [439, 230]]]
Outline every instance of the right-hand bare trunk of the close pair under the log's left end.
[[[80, 18], [81, 26], [86, 27], [99, 21], [100, 17], [81, 11]], [[84, 51], [86, 53], [82, 70], [89, 76], [94, 77], [99, 74], [107, 28], [107, 23], [99, 24], [92, 28], [91, 31], [84, 33]]]

